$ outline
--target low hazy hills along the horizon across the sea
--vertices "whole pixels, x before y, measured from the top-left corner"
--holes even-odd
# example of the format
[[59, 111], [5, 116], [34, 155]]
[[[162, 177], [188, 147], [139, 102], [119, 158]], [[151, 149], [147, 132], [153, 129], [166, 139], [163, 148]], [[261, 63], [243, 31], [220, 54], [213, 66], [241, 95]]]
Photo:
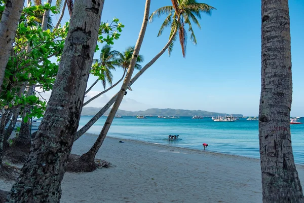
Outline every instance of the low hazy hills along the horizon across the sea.
[[[81, 115], [93, 116], [95, 115], [101, 108], [95, 107], [84, 107]], [[108, 109], [104, 115], [108, 115], [111, 109]], [[217, 112], [208, 112], [201, 110], [183, 110], [183, 109], [147, 109], [145, 111], [124, 111], [118, 110], [116, 115], [120, 116], [137, 116], [137, 115], [149, 115], [149, 116], [225, 116], [230, 115], [226, 113], [217, 113]], [[233, 114], [236, 117], [242, 117], [242, 114]]]

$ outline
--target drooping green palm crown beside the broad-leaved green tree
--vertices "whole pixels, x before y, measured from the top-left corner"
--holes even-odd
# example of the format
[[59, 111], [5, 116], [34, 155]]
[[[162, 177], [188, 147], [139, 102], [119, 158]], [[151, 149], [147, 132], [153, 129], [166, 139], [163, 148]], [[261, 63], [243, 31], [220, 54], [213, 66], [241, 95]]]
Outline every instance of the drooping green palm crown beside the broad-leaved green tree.
[[112, 85], [113, 75], [111, 71], [115, 71], [115, 66], [119, 65], [119, 62], [117, 61], [119, 55], [120, 53], [118, 51], [112, 50], [112, 47], [106, 44], [100, 50], [99, 59], [93, 60], [93, 63], [97, 63], [98, 66], [104, 67], [100, 71], [100, 74], [103, 75], [104, 78], [98, 78], [99, 80], [101, 79], [104, 89], [106, 87], [106, 82]]

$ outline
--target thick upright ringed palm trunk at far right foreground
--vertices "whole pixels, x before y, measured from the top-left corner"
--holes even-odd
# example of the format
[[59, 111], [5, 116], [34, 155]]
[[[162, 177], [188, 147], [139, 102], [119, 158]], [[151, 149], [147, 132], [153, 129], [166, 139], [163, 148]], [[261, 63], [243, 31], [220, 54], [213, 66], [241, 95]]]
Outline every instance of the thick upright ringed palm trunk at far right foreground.
[[288, 0], [262, 0], [259, 145], [263, 202], [304, 202], [294, 164]]

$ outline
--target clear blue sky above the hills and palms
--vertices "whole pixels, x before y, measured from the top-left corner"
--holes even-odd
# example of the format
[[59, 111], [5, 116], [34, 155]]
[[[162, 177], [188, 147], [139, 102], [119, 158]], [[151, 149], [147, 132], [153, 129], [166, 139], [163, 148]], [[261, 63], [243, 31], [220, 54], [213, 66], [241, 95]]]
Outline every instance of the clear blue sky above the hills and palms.
[[[212, 15], [202, 15], [202, 29], [195, 28], [198, 45], [188, 40], [186, 57], [175, 44], [171, 56], [161, 58], [132, 85], [120, 109], [173, 108], [205, 110], [257, 116], [260, 97], [260, 1], [225, 0], [198, 1], [215, 7]], [[120, 19], [125, 25], [121, 38], [113, 48], [124, 51], [135, 45], [143, 18], [145, 1], [105, 1], [102, 21]], [[170, 0], [151, 1], [150, 13], [171, 5]], [[291, 21], [291, 54], [293, 103], [291, 116], [304, 116], [303, 82], [303, 20], [304, 1], [289, 1]], [[66, 11], [67, 13], [67, 11]], [[169, 30], [157, 37], [165, 16], [148, 24], [140, 50], [145, 65], [166, 44]], [[54, 17], [54, 21], [58, 19]], [[65, 15], [64, 20], [68, 20]], [[102, 45], [99, 45], [102, 46]], [[98, 58], [96, 53], [95, 58]], [[113, 73], [114, 81], [122, 70]], [[134, 75], [136, 72], [134, 73]], [[88, 86], [96, 79], [90, 77]], [[120, 84], [121, 85], [121, 84]], [[103, 107], [120, 88], [113, 88], [88, 106]], [[88, 97], [102, 91], [99, 83]]]

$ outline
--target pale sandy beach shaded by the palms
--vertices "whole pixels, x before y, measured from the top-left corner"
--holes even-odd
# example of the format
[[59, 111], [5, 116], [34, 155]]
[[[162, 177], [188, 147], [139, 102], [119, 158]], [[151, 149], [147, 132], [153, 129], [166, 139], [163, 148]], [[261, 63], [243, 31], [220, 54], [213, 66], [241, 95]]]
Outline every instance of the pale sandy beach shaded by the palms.
[[[87, 152], [96, 136], [74, 143]], [[261, 202], [258, 159], [106, 138], [97, 157], [114, 167], [66, 173], [61, 202]], [[297, 165], [304, 186], [304, 166]], [[10, 190], [12, 182], [0, 181]]]

